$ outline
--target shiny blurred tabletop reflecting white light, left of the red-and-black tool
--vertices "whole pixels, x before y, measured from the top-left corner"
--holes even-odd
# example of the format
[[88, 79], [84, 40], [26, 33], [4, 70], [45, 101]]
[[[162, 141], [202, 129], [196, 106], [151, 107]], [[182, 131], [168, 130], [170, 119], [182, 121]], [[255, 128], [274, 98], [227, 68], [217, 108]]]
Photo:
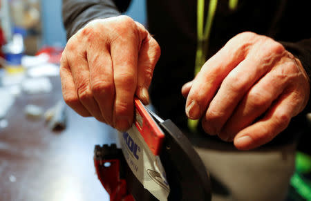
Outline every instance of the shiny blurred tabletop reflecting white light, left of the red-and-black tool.
[[95, 175], [93, 150], [95, 144], [115, 142], [115, 131], [70, 108], [60, 132], [49, 131], [44, 118], [35, 121], [23, 113], [27, 104], [46, 110], [62, 99], [59, 77], [50, 80], [52, 93], [19, 95], [8, 126], [0, 128], [0, 200], [109, 200]]

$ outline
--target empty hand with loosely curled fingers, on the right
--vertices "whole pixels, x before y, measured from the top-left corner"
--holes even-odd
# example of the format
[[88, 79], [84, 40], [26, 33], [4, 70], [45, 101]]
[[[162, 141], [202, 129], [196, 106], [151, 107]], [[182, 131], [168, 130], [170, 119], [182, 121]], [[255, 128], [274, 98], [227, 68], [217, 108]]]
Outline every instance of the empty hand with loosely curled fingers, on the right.
[[270, 142], [303, 110], [310, 93], [301, 62], [273, 39], [243, 32], [185, 84], [186, 113], [238, 149]]

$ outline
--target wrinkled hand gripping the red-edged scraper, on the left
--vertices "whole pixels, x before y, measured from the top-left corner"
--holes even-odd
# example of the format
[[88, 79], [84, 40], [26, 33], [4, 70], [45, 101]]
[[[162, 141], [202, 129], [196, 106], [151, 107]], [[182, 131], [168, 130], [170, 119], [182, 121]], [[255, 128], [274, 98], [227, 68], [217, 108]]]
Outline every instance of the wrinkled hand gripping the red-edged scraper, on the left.
[[64, 100], [79, 115], [125, 131], [133, 122], [134, 95], [149, 102], [159, 57], [156, 40], [130, 17], [91, 21], [68, 40], [63, 52]]

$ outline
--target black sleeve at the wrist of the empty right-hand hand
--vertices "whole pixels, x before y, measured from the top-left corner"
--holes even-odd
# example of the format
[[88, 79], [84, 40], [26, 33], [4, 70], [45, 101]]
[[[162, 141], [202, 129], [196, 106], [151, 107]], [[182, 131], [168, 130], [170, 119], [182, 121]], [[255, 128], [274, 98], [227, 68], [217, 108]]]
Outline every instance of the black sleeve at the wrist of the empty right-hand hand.
[[[293, 42], [281, 42], [286, 50], [291, 52], [296, 58], [301, 61], [303, 68], [308, 73], [309, 76], [309, 84], [311, 88], [311, 39], [303, 39], [296, 43]], [[311, 112], [311, 99], [309, 96], [309, 102], [306, 106], [304, 113]]]

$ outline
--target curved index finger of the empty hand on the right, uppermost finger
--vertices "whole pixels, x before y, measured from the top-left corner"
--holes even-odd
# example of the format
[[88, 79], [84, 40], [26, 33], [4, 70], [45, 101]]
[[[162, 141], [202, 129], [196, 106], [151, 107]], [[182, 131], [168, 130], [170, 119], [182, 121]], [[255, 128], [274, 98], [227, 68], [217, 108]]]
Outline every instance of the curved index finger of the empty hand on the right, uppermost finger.
[[190, 119], [202, 116], [223, 79], [245, 59], [257, 37], [250, 32], [234, 37], [202, 66], [187, 97], [186, 114]]

